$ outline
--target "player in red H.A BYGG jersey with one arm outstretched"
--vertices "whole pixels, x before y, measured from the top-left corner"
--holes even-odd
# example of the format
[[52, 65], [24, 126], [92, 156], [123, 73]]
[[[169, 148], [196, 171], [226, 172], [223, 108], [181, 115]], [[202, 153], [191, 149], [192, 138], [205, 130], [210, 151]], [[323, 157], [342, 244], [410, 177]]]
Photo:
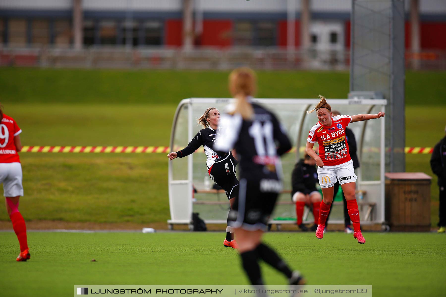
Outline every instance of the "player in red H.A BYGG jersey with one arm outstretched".
[[[359, 209], [356, 203], [356, 179], [353, 170], [353, 161], [348, 152], [348, 144], [345, 139], [345, 128], [348, 124], [359, 121], [367, 121], [372, 118], [384, 117], [384, 112], [378, 114], [356, 114], [337, 115], [332, 117], [331, 107], [323, 96], [319, 96], [321, 101], [314, 110], [318, 115], [319, 122], [310, 130], [307, 139], [306, 153], [314, 158], [318, 166], [319, 184], [322, 188], [322, 202], [319, 211], [319, 225], [316, 230], [316, 237], [322, 239], [324, 236], [325, 222], [333, 201], [333, 187], [338, 179], [347, 200], [347, 210], [355, 232], [353, 237], [360, 244], [365, 244], [365, 239], [361, 234], [359, 224]], [[310, 110], [308, 113], [313, 112]], [[319, 155], [313, 151], [315, 142], [319, 144]]]

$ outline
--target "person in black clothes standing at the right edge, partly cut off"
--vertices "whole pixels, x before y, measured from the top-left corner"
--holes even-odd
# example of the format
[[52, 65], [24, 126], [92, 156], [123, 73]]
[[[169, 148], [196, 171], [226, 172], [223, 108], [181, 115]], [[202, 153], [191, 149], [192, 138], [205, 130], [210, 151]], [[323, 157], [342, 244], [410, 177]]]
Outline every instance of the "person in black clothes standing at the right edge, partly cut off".
[[446, 136], [434, 146], [434, 151], [430, 157], [430, 168], [438, 176], [438, 187], [440, 187], [438, 233], [444, 233], [446, 226]]

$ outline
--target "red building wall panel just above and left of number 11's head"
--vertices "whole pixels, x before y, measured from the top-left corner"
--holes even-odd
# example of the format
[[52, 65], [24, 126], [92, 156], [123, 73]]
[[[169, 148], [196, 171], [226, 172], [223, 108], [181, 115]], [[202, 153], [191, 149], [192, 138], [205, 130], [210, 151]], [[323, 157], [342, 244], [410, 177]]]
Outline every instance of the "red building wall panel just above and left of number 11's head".
[[232, 45], [231, 20], [203, 20], [201, 45], [230, 46]]

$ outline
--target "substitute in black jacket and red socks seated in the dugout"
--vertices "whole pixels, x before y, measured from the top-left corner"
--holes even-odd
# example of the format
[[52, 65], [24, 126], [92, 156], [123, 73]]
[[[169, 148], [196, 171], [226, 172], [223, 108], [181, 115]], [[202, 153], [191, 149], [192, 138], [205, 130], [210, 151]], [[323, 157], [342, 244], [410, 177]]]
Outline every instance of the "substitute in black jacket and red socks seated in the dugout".
[[313, 207], [314, 224], [311, 231], [316, 231], [319, 222], [319, 206], [321, 205], [322, 196], [316, 188], [318, 180], [318, 171], [316, 169], [316, 161], [305, 154], [304, 159], [300, 159], [296, 163], [291, 174], [291, 200], [296, 203], [297, 226], [302, 231], [308, 231], [308, 227], [302, 224], [304, 207]]

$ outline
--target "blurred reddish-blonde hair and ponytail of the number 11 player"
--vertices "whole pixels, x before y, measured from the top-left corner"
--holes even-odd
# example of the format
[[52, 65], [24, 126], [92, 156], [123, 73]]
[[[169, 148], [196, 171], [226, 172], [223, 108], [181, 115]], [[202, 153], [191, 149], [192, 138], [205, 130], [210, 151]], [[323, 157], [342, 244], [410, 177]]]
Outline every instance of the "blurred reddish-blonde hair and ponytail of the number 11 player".
[[256, 93], [256, 73], [248, 67], [234, 69], [229, 74], [229, 91], [237, 99], [234, 113], [240, 113], [245, 120], [252, 119], [254, 110], [247, 97]]

